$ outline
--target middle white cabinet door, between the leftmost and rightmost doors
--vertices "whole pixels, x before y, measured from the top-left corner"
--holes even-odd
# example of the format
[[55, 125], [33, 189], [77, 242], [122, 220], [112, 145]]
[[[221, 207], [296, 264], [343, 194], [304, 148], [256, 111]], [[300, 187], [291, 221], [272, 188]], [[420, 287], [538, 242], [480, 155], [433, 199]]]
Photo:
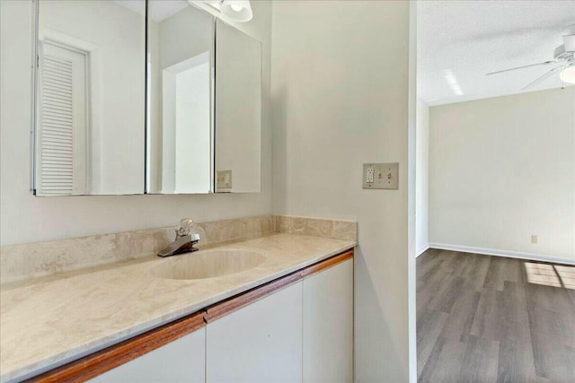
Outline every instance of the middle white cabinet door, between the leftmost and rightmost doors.
[[207, 326], [208, 383], [302, 380], [302, 282]]

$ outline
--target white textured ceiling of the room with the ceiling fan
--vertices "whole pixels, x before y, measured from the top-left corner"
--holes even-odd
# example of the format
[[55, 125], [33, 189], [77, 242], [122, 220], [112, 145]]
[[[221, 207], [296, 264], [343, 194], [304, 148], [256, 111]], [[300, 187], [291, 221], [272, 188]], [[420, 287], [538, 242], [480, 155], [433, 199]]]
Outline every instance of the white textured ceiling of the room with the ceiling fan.
[[[430, 106], [515, 94], [554, 65], [575, 0], [417, 2], [418, 96]], [[559, 75], [528, 91], [560, 88]], [[566, 84], [565, 84], [566, 85]]]

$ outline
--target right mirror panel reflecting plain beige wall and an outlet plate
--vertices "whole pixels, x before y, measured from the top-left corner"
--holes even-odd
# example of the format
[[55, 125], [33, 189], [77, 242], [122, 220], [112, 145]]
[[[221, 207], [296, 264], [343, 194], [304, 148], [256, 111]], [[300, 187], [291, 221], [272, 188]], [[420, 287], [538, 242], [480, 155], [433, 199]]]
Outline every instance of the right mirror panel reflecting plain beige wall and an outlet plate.
[[261, 42], [217, 20], [216, 191], [259, 192]]

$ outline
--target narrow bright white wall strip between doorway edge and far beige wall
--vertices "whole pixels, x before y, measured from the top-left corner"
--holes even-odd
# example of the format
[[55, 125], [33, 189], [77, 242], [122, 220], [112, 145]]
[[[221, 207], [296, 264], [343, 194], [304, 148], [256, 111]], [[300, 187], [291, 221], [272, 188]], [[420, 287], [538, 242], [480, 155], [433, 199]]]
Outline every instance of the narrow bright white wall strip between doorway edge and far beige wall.
[[429, 248], [429, 106], [417, 99], [415, 132], [415, 251], [419, 256]]

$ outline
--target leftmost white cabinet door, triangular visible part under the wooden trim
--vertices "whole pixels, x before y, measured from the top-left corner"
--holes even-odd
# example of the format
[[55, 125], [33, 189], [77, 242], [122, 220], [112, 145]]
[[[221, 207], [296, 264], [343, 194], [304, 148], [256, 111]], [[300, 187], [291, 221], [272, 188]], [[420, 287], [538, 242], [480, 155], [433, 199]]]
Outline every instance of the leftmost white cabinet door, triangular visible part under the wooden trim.
[[204, 383], [205, 368], [206, 327], [202, 327], [90, 381]]

